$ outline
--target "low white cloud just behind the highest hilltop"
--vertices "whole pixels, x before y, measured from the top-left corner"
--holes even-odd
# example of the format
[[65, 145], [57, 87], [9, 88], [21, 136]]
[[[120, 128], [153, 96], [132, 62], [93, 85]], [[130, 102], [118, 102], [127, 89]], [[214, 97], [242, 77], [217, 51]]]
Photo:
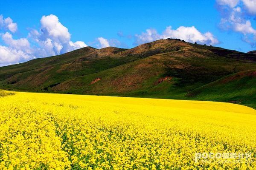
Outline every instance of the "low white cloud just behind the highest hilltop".
[[206, 32], [201, 33], [194, 26], [192, 27], [184, 27], [180, 26], [177, 29], [172, 29], [171, 26], [166, 27], [165, 31], [162, 34], [158, 34], [155, 29], [147, 29], [146, 32], [142, 34], [135, 35], [135, 45], [139, 45], [145, 42], [151, 42], [154, 40], [166, 38], [177, 38], [181, 40], [185, 40], [187, 42], [197, 42], [201, 44], [218, 44], [219, 41], [213, 36], [212, 33]]

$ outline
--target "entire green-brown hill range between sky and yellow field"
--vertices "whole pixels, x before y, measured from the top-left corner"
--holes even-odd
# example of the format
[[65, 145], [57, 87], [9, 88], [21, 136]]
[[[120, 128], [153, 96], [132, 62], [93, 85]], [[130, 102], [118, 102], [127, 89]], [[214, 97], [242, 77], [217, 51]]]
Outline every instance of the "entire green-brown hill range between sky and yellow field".
[[[239, 82], [231, 79], [222, 86], [217, 83], [249, 70], [256, 70], [255, 54], [180, 40], [157, 40], [131, 49], [85, 47], [2, 67], [0, 87], [68, 94], [237, 100], [245, 105], [250, 100], [249, 105], [256, 107], [255, 76], [245, 74]], [[250, 94], [239, 98], [243, 91], [237, 85]]]

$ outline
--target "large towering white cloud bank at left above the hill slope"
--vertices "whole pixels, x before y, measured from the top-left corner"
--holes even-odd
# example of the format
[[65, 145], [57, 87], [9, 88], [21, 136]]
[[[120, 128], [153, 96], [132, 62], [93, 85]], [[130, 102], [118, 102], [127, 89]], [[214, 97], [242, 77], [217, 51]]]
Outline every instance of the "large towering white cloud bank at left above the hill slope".
[[[0, 37], [6, 46], [0, 46], [0, 65], [24, 62], [36, 57], [48, 57], [86, 47], [83, 41], [71, 41], [71, 34], [55, 15], [43, 16], [39, 30], [33, 29], [28, 37], [14, 39], [12, 33], [17, 31], [17, 24], [10, 17], [0, 15], [0, 28], [6, 33]], [[32, 44], [32, 46], [31, 46]]]

